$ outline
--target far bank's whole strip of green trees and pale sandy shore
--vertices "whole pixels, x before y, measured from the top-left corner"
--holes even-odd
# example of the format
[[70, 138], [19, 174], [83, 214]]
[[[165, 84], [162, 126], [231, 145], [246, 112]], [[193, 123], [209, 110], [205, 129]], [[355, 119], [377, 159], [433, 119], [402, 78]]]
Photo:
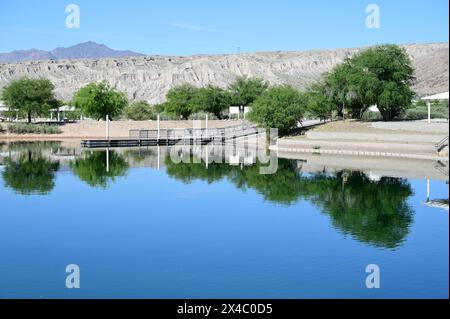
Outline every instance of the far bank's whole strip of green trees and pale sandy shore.
[[[163, 120], [161, 128], [191, 128], [192, 120], [206, 117], [210, 128], [225, 127], [238, 124], [227, 121], [231, 117], [228, 109], [234, 105], [241, 112], [249, 107], [247, 120], [257, 126], [278, 129], [281, 138], [277, 146], [272, 146], [278, 151], [448, 156], [448, 146], [441, 154], [433, 147], [448, 136], [448, 129], [437, 128], [425, 141], [420, 138], [425, 128], [417, 120], [425, 116], [427, 107], [423, 101], [417, 101], [412, 90], [414, 80], [406, 51], [391, 44], [370, 47], [348, 57], [304, 91], [242, 76], [227, 88], [190, 84], [173, 87], [164, 103], [153, 106], [146, 101], [130, 103], [124, 92], [107, 81], [90, 83], [74, 92], [71, 101], [60, 101], [48, 79], [22, 78], [6, 86], [1, 99], [10, 118], [25, 119], [28, 124], [0, 124], [0, 140], [102, 139], [106, 128], [102, 120], [106, 118], [112, 120], [110, 138], [128, 138], [131, 129], [156, 129], [158, 117]], [[32, 123], [33, 118], [48, 118], [63, 105], [73, 108], [70, 118], [55, 123]], [[83, 117], [91, 120], [66, 121]], [[432, 117], [448, 121], [448, 102], [433, 105]], [[299, 123], [308, 119], [320, 119], [322, 123], [312, 129], [299, 127]], [[402, 124], [383, 132], [376, 128], [378, 123], [402, 123], [395, 122], [399, 120], [404, 121], [403, 128], [398, 129]], [[367, 130], [363, 134], [362, 126]], [[410, 127], [407, 133], [405, 126]], [[440, 124], [428, 128], [433, 127]]]

